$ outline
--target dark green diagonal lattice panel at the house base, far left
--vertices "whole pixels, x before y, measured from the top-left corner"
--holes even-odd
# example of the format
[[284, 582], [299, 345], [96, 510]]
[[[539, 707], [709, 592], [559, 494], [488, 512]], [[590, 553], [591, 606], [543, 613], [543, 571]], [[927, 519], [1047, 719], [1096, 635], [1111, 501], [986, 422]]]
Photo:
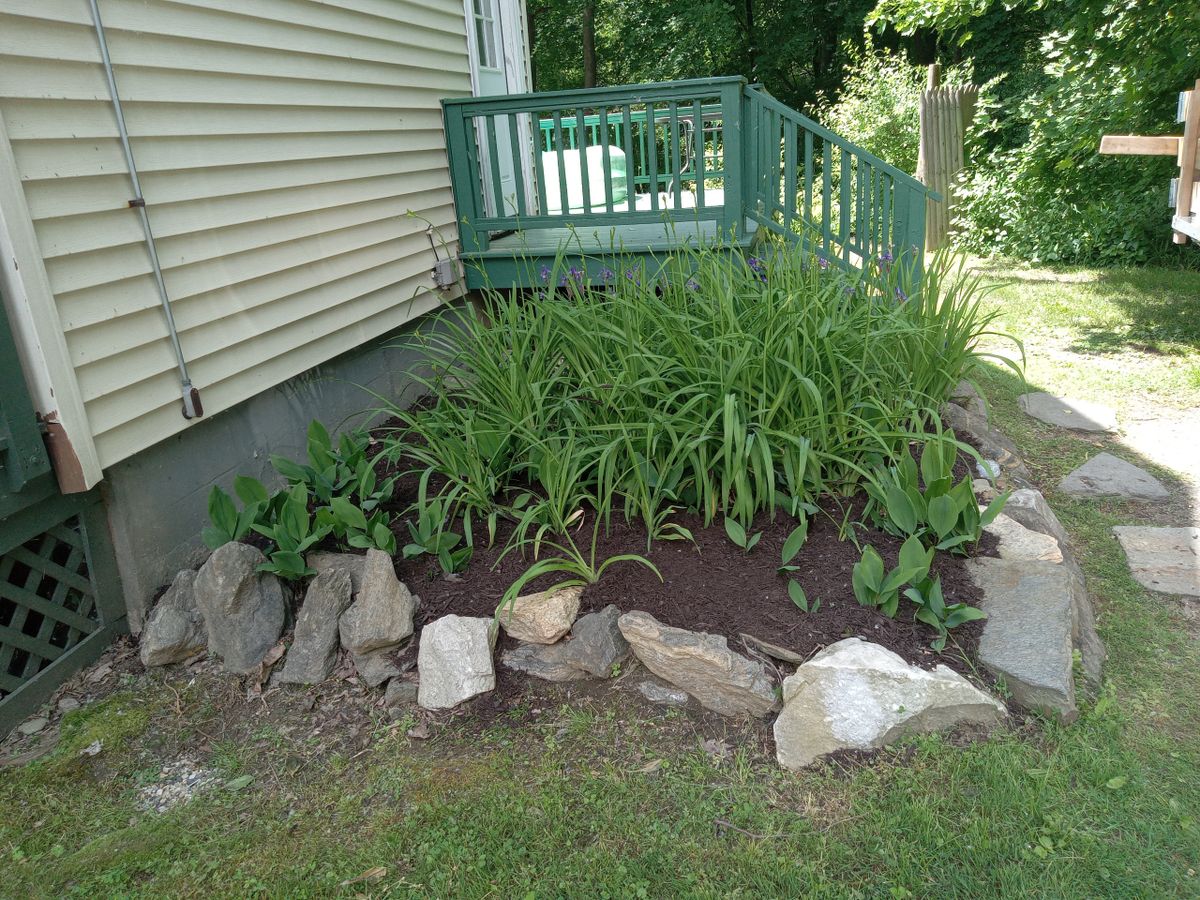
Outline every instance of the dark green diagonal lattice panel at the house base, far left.
[[80, 517], [0, 557], [0, 698], [101, 628]]

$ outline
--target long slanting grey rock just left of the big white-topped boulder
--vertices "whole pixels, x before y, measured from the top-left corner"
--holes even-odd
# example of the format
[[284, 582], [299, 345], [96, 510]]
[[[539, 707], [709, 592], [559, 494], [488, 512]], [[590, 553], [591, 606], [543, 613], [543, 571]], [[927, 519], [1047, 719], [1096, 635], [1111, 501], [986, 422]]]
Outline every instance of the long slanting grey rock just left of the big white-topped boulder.
[[764, 716], [775, 691], [761, 662], [733, 653], [719, 635], [664, 625], [648, 612], [626, 612], [620, 634], [654, 674], [722, 715]]

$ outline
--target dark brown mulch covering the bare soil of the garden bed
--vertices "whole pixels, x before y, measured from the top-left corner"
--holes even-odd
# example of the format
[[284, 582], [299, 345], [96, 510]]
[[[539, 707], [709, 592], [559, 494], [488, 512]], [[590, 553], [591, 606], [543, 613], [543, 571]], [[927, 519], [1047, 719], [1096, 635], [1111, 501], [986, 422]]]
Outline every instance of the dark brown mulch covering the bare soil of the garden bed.
[[[734, 649], [742, 648], [740, 635], [750, 634], [802, 656], [844, 637], [859, 636], [894, 650], [914, 665], [929, 668], [946, 664], [971, 673], [970, 661], [976, 656], [980, 623], [955, 629], [947, 650], [937, 654], [929, 648], [936, 634], [913, 620], [913, 607], [907, 601], [901, 601], [895, 619], [858, 604], [851, 588], [851, 569], [860, 551], [839, 534], [844, 520], [860, 545], [870, 544], [889, 566], [896, 564], [898, 539], [854, 526], [853, 514], [846, 517], [829, 504], [812, 517], [809, 539], [793, 560], [800, 569], [792, 577], [800, 582], [810, 604], [821, 600], [815, 612], [805, 613], [792, 604], [787, 595], [787, 576], [776, 571], [784, 541], [794, 527], [794, 522], [782, 515], [774, 522], [766, 515], [756, 520], [751, 533], [761, 530], [762, 538], [749, 554], [730, 541], [722, 526], [704, 528], [695, 516], [680, 515], [674, 520], [692, 532], [695, 545], [655, 541], [649, 552], [646, 530], [640, 523], [614, 522], [607, 534], [604, 529], [600, 532], [596, 562], [618, 553], [637, 553], [659, 569], [662, 580], [637, 563], [616, 563], [599, 582], [584, 590], [582, 612], [616, 604], [624, 611], [649, 612], [668, 625], [724, 635]], [[476, 548], [467, 571], [449, 580], [428, 557], [396, 562], [397, 575], [421, 596], [421, 625], [448, 613], [491, 616], [494, 612], [508, 587], [533, 562], [517, 551], [500, 558], [510, 533], [510, 527], [502, 526], [496, 545]], [[590, 554], [590, 522], [574, 539], [584, 554]], [[988, 550], [986, 545], [980, 547], [984, 553]], [[548, 553], [544, 550], [544, 556]], [[942, 578], [949, 602], [979, 600], [961, 559], [940, 554], [935, 571]], [[562, 577], [565, 576], [544, 576], [523, 593], [550, 587]]]

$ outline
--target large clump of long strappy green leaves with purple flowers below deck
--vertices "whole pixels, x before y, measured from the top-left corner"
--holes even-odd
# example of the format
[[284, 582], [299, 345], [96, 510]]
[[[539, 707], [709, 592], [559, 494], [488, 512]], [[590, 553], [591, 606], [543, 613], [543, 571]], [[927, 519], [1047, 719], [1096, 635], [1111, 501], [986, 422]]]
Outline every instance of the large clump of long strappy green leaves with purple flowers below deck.
[[394, 410], [385, 443], [444, 478], [448, 518], [494, 534], [508, 516], [520, 541], [584, 509], [652, 539], [688, 536], [677, 508], [803, 516], [924, 436], [988, 325], [961, 264], [940, 256], [916, 283], [901, 269], [688, 251], [595, 282], [547, 271], [533, 301], [485, 292], [486, 312], [448, 311], [425, 338], [436, 402]]

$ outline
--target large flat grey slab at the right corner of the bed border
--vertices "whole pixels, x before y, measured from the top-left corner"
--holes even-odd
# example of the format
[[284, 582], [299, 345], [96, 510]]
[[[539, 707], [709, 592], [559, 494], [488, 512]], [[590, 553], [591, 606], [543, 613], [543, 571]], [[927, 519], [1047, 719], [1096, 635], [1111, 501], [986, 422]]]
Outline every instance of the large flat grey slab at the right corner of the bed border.
[[1104, 662], [1079, 575], [1042, 560], [978, 558], [966, 565], [983, 592], [979, 608], [988, 614], [979, 661], [1004, 679], [1021, 706], [1073, 721], [1079, 715], [1073, 650], [1079, 649], [1092, 685]]

